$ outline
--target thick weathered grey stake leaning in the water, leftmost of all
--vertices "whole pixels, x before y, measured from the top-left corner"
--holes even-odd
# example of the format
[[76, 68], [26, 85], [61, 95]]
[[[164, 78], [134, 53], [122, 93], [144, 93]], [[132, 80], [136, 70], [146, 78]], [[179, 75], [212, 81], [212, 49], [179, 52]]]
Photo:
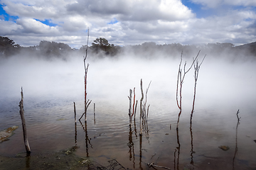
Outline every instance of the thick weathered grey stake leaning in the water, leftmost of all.
[[22, 90], [22, 87], [21, 87], [21, 101], [20, 101], [18, 106], [20, 107], [24, 145], [26, 147], [26, 152], [29, 155], [31, 153], [31, 149], [30, 149], [29, 144], [28, 144], [28, 135], [27, 135], [27, 132], [26, 132], [26, 122], [25, 122], [25, 118], [24, 118], [24, 109], [23, 109], [23, 90]]

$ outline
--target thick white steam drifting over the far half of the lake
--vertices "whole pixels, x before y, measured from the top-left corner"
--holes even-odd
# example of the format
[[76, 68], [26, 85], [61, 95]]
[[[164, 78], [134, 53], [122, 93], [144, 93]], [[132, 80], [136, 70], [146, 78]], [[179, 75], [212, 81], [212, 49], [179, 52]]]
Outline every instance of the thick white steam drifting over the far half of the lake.
[[[195, 56], [192, 56], [195, 57]], [[203, 55], [200, 56], [201, 58]], [[201, 59], [199, 58], [199, 60]], [[92, 57], [91, 57], [92, 59]], [[187, 66], [192, 58], [186, 58]], [[112, 104], [127, 104], [129, 89], [136, 87], [140, 98], [140, 79], [144, 89], [152, 81], [148, 100], [153, 104], [166, 102], [175, 107], [176, 79], [179, 57], [144, 60], [139, 57], [90, 60], [87, 77], [87, 98], [94, 103], [105, 100]], [[62, 98], [82, 101], [84, 96], [84, 66], [82, 57], [68, 61], [31, 60], [12, 57], [0, 64], [1, 100], [20, 98], [23, 86], [25, 98]], [[198, 77], [196, 103], [206, 106], [234, 105], [237, 108], [255, 101], [256, 67], [254, 62], [228, 63], [206, 57]], [[183, 100], [191, 103], [193, 98], [193, 68], [183, 84]], [[25, 99], [24, 98], [24, 99]], [[161, 101], [161, 102], [158, 102]], [[189, 107], [191, 104], [189, 105]]]

